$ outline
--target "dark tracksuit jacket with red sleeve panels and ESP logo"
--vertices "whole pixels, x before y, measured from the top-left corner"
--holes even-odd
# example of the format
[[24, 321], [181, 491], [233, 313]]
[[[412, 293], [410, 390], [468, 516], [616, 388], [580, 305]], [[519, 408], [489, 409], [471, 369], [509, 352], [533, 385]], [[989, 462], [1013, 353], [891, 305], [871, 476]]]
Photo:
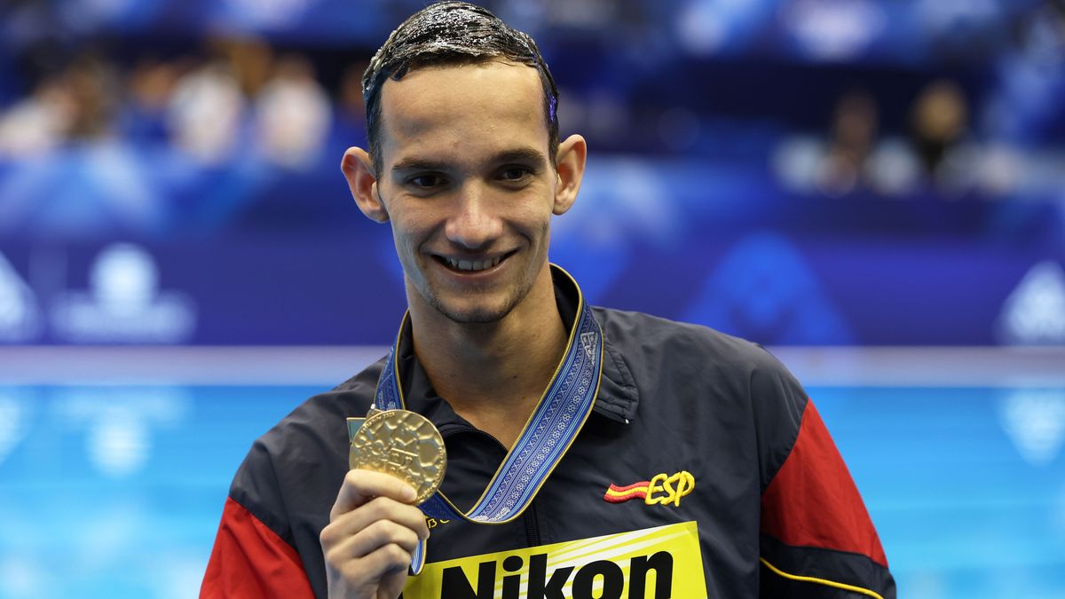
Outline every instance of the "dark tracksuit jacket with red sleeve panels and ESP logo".
[[[556, 296], [572, 322], [575, 291], [556, 281]], [[575, 442], [517, 520], [430, 520], [428, 564], [407, 599], [895, 597], [847, 467], [775, 358], [701, 326], [593, 313], [603, 377]], [[411, 352], [399, 360], [407, 408], [445, 440], [442, 490], [469, 508], [507, 449], [436, 394]], [[383, 363], [311, 398], [252, 444], [201, 597], [327, 596], [318, 534], [348, 469], [345, 419], [365, 415]], [[584, 540], [607, 535], [619, 536]], [[650, 549], [634, 557], [625, 547]]]

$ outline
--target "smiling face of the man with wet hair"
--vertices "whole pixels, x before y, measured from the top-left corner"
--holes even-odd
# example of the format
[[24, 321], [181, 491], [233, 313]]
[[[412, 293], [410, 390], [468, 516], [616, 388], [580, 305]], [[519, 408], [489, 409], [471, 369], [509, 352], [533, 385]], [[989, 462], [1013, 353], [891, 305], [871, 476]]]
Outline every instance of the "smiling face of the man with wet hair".
[[501, 62], [415, 69], [382, 87], [381, 124], [374, 191], [412, 307], [422, 302], [459, 323], [494, 322], [538, 279], [550, 281], [551, 216], [572, 199], [559, 193], [547, 155], [536, 69]]

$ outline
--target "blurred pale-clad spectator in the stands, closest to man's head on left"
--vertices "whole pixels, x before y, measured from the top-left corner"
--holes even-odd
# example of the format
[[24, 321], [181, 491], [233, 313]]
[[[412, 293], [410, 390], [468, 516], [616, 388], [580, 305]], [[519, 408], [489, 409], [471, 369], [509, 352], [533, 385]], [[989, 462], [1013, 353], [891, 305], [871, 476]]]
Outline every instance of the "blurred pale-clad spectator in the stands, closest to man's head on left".
[[329, 96], [314, 79], [310, 61], [285, 56], [256, 99], [258, 148], [267, 160], [282, 166], [313, 166], [331, 117]]

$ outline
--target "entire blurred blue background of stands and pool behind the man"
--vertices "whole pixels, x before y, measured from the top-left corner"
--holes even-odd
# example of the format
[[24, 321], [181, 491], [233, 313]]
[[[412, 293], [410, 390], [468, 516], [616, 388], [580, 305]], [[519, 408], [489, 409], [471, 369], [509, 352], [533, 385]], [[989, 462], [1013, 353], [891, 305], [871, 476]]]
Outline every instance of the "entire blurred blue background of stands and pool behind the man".
[[[405, 300], [339, 172], [421, 1], [0, 7], [0, 597], [190, 597]], [[591, 156], [552, 259], [773, 347], [913, 598], [1065, 597], [1065, 2], [487, 2]]]

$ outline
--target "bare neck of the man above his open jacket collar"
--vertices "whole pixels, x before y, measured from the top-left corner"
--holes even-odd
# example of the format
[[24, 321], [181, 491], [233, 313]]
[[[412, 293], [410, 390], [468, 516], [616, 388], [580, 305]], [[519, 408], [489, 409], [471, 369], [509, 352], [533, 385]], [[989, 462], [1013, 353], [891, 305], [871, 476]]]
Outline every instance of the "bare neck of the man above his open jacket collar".
[[414, 353], [433, 388], [474, 426], [513, 444], [569, 337], [550, 269], [545, 265], [528, 295], [493, 323], [456, 323], [424, 302], [410, 304]]

